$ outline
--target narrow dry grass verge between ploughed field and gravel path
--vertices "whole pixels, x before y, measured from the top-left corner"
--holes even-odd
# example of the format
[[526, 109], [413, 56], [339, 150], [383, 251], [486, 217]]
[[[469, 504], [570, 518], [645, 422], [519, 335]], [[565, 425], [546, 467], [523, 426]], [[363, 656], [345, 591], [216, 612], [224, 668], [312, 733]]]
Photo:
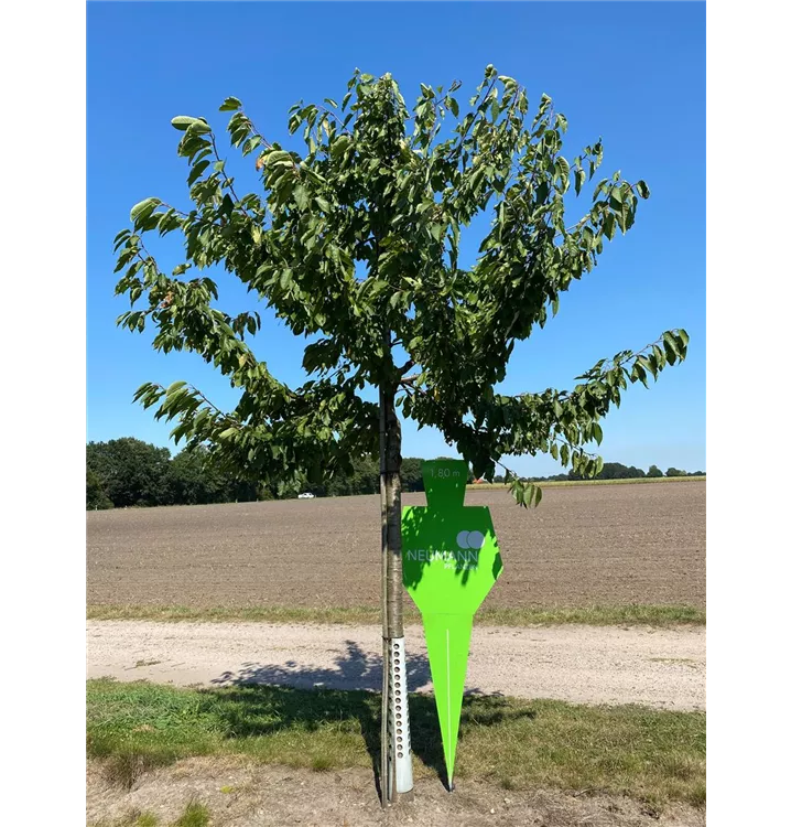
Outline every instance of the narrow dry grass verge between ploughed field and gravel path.
[[[149, 620], [149, 621], [250, 621], [258, 623], [347, 623], [377, 624], [379, 610], [370, 606], [181, 606], [181, 605], [94, 605], [88, 606], [88, 620]], [[419, 623], [420, 614], [405, 609], [408, 622]], [[477, 625], [534, 626], [582, 623], [592, 626], [681, 624], [705, 625], [706, 612], [690, 605], [590, 605], [578, 609], [527, 608], [481, 609]]]

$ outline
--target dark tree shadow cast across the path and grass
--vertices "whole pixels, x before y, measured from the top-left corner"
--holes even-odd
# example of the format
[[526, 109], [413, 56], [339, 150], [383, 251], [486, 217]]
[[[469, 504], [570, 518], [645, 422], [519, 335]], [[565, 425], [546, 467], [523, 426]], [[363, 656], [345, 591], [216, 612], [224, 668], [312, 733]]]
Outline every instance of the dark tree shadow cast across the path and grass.
[[[380, 696], [382, 658], [364, 652], [353, 642], [339, 653], [334, 667], [248, 663], [238, 672], [227, 672], [212, 683], [221, 688], [207, 692], [207, 702], [224, 730], [235, 738], [271, 734], [291, 728], [316, 731], [335, 728], [359, 731], [371, 761], [377, 790], [381, 794], [379, 755], [381, 733]], [[412, 752], [438, 775], [448, 788], [442, 735], [434, 697], [425, 692], [431, 669], [424, 655], [407, 658], [410, 694]], [[462, 705], [459, 743], [469, 727], [487, 727], [506, 718], [532, 717], [530, 710], [514, 710], [501, 695], [468, 689]]]

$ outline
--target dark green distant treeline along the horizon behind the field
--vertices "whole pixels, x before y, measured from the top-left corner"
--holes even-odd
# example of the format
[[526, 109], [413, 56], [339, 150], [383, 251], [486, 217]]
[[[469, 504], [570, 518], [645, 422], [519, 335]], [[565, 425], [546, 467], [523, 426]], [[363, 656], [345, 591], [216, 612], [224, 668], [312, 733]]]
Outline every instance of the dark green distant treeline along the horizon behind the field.
[[[404, 491], [423, 491], [423, 460], [408, 457], [401, 465]], [[705, 476], [696, 471], [690, 476]], [[662, 473], [655, 465], [648, 472], [619, 462], [606, 462], [599, 480], [624, 480], [640, 476], [687, 476], [670, 468]], [[529, 477], [533, 482], [579, 480], [574, 473]], [[474, 482], [472, 472], [467, 482]], [[495, 482], [505, 482], [496, 476]], [[175, 457], [166, 448], [123, 437], [108, 442], [88, 442], [86, 447], [86, 505], [95, 508], [123, 508], [155, 505], [206, 505], [245, 503], [259, 500], [292, 500], [302, 492], [315, 496], [375, 494], [379, 491], [379, 466], [370, 459], [359, 460], [349, 476], [336, 477], [325, 485], [306, 488], [270, 487], [235, 479], [216, 469], [204, 449], [181, 451]]]

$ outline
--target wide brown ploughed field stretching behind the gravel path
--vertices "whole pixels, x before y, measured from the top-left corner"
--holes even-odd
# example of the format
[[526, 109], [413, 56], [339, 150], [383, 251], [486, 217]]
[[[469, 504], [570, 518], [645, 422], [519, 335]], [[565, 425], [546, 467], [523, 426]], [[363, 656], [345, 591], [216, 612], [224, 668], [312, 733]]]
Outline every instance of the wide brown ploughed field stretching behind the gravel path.
[[[502, 552], [489, 606], [705, 606], [704, 482], [549, 487], [530, 511], [502, 490], [466, 503], [491, 508]], [[376, 606], [378, 544], [377, 496], [90, 512], [87, 602]]]

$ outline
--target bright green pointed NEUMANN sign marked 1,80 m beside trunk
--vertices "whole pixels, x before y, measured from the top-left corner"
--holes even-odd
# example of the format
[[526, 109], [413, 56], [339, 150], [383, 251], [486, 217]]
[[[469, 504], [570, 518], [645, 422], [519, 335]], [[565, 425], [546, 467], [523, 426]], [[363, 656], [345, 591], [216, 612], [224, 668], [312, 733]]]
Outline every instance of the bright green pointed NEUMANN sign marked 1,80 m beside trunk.
[[403, 584], [423, 616], [448, 788], [473, 617], [502, 571], [486, 506], [465, 506], [467, 463], [423, 463], [427, 506], [404, 506]]

